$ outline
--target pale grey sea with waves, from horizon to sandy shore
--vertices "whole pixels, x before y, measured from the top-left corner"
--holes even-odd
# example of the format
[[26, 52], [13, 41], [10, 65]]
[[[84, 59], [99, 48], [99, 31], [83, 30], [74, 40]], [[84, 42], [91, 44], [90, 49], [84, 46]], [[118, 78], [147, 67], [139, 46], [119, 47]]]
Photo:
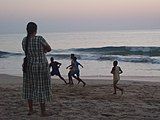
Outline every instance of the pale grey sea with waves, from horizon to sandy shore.
[[[119, 61], [124, 76], [160, 76], [160, 30], [39, 33], [51, 45], [52, 56], [67, 76], [70, 54], [84, 66], [81, 76], [110, 76], [112, 62]], [[26, 34], [0, 35], [0, 73], [22, 76]]]

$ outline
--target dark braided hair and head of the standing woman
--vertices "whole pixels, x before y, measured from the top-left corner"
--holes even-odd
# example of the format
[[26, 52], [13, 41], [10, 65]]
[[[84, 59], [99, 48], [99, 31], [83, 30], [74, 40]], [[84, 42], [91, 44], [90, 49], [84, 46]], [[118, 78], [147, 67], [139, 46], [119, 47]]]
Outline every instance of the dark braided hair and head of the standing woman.
[[29, 39], [29, 38], [30, 38], [30, 35], [31, 35], [32, 33], [34, 33], [34, 32], [37, 31], [37, 25], [36, 25], [36, 23], [34, 23], [34, 22], [29, 22], [29, 23], [27, 24], [26, 30], [27, 30], [27, 39]]

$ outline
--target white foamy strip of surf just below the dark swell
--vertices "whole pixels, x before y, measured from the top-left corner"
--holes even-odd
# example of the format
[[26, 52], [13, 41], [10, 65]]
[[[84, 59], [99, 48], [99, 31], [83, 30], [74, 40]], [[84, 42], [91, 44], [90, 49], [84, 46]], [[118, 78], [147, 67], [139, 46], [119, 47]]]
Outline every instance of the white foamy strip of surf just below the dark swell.
[[[50, 57], [54, 57], [57, 60], [70, 59], [70, 54], [50, 54]], [[76, 54], [79, 60], [97, 60], [97, 61], [123, 61], [133, 63], [152, 63], [160, 64], [160, 57], [149, 57], [149, 56], [121, 56], [121, 55], [93, 55], [93, 54]]]

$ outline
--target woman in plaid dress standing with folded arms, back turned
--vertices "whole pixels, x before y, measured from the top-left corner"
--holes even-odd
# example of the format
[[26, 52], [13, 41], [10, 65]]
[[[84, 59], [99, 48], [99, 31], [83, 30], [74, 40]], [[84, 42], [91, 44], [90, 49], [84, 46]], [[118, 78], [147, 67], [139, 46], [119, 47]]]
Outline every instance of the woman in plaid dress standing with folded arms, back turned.
[[45, 53], [51, 47], [42, 36], [36, 36], [37, 25], [27, 24], [27, 36], [22, 41], [22, 48], [26, 55], [27, 65], [23, 70], [23, 98], [28, 100], [28, 115], [34, 113], [33, 101], [39, 102], [41, 115], [48, 116], [45, 102], [51, 100], [51, 81], [48, 61]]

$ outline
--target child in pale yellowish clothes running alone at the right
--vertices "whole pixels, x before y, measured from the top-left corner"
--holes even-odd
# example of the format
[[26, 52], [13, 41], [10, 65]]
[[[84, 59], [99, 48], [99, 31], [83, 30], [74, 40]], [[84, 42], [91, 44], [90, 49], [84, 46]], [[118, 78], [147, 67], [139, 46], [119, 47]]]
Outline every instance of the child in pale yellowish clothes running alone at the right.
[[114, 87], [114, 93], [113, 94], [116, 94], [117, 89], [119, 89], [121, 91], [121, 93], [123, 94], [123, 89], [117, 86], [117, 83], [120, 80], [120, 74], [122, 74], [123, 71], [117, 65], [118, 65], [118, 61], [114, 61], [113, 62], [113, 68], [111, 70], [111, 73], [113, 74], [113, 87]]

